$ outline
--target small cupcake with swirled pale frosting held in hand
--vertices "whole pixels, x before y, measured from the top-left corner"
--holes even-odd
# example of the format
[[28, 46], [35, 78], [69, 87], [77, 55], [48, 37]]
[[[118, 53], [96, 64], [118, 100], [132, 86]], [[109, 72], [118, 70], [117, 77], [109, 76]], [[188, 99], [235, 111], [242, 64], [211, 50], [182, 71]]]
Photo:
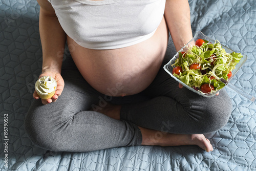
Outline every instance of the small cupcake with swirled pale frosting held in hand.
[[41, 99], [49, 99], [55, 93], [57, 82], [52, 77], [41, 77], [35, 83], [35, 91]]

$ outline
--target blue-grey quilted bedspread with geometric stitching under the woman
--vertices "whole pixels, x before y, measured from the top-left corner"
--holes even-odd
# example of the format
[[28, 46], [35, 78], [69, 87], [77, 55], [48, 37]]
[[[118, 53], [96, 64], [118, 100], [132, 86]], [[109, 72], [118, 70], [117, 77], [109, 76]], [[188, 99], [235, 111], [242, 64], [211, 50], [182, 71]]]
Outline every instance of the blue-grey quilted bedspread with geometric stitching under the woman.
[[[248, 56], [232, 83], [255, 95], [255, 1], [190, 0], [189, 4], [194, 33], [202, 31]], [[256, 170], [256, 103], [228, 88], [233, 112], [222, 130], [206, 135], [215, 148], [211, 153], [197, 146], [56, 153], [33, 145], [23, 122], [41, 67], [38, 13], [35, 0], [0, 2], [0, 125], [3, 128], [3, 116], [8, 114], [9, 170]], [[0, 168], [5, 170], [3, 143], [0, 146]]]

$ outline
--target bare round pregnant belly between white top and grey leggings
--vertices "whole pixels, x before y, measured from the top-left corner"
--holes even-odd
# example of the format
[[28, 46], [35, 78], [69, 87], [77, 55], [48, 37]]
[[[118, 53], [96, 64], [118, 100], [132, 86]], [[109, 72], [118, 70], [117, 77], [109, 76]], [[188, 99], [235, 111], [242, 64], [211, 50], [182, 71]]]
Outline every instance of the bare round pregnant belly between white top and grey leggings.
[[70, 37], [67, 40], [78, 70], [94, 89], [125, 96], [143, 91], [154, 80], [167, 48], [168, 32], [163, 18], [150, 39], [126, 48], [92, 50], [80, 47]]

